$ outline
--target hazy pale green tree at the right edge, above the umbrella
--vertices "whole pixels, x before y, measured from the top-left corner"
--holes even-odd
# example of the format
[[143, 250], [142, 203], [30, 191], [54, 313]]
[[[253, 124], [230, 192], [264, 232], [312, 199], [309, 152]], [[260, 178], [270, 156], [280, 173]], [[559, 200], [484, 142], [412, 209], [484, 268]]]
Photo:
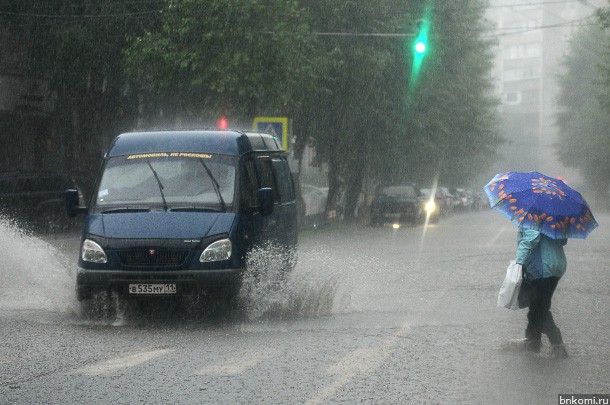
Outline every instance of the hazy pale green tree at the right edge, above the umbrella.
[[559, 159], [580, 170], [599, 198], [610, 185], [610, 111], [606, 63], [610, 36], [599, 27], [581, 29], [572, 39], [559, 80]]

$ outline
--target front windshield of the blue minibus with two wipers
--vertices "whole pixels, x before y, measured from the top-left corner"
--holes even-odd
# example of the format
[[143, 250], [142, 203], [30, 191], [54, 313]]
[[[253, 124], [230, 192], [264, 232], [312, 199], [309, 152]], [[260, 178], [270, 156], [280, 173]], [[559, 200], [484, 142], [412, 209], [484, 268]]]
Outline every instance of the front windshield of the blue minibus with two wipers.
[[113, 157], [104, 168], [95, 206], [101, 211], [156, 207], [225, 211], [233, 203], [236, 164], [232, 156], [202, 153]]

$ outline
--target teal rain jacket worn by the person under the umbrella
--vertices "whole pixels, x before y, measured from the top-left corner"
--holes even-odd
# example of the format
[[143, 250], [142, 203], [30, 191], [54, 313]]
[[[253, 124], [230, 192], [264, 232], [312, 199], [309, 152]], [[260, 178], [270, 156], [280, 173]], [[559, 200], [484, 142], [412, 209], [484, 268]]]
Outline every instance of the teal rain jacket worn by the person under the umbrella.
[[533, 230], [520, 229], [517, 236], [517, 263], [528, 279], [561, 277], [568, 266], [563, 246], [567, 239], [552, 239]]

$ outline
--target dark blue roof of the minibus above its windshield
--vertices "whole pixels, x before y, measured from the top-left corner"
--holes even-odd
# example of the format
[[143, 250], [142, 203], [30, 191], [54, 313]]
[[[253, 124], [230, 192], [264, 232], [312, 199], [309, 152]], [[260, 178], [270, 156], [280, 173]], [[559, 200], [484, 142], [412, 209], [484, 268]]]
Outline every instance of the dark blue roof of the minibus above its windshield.
[[141, 153], [198, 152], [240, 156], [250, 152], [283, 152], [274, 136], [245, 131], [172, 130], [128, 132], [116, 137], [107, 157]]

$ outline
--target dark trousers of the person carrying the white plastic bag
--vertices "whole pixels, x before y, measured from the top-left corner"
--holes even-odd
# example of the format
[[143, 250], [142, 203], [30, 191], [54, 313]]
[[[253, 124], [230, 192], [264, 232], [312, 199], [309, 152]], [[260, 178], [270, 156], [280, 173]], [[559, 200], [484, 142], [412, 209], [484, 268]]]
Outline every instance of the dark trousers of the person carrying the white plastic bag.
[[530, 283], [534, 287], [534, 297], [530, 302], [529, 311], [527, 313], [527, 328], [525, 329], [525, 337], [532, 340], [540, 340], [542, 334], [548, 336], [552, 345], [563, 343], [561, 332], [551, 314], [551, 299], [559, 277], [540, 278], [531, 280]]

